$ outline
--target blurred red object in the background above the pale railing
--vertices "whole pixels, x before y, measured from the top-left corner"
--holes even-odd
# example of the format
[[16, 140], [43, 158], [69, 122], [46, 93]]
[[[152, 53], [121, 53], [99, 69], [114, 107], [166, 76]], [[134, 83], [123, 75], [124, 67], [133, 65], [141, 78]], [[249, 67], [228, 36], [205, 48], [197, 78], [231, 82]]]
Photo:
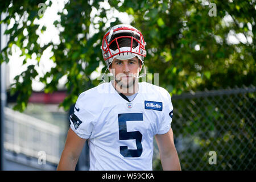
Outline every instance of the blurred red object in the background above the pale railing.
[[63, 102], [65, 97], [67, 97], [66, 92], [33, 92], [28, 102], [42, 104], [60, 104], [61, 102]]

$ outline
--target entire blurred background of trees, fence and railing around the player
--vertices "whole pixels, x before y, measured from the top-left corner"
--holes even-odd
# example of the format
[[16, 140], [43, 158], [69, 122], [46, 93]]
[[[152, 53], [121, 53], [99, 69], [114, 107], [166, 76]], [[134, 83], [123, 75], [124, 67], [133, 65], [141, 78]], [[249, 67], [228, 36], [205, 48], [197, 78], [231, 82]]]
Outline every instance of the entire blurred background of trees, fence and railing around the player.
[[[119, 23], [142, 31], [146, 81], [171, 94], [181, 168], [256, 169], [255, 0], [0, 2], [1, 170], [56, 169], [77, 97], [102, 82], [102, 38]], [[88, 169], [85, 144], [76, 170]]]

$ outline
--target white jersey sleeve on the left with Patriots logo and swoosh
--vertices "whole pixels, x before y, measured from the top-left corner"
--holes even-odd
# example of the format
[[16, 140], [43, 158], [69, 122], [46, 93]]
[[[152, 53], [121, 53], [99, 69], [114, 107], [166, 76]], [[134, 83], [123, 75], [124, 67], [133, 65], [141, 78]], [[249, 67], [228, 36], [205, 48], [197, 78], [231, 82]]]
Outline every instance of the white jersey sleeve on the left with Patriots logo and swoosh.
[[74, 113], [69, 116], [71, 129], [84, 139], [90, 138], [95, 123], [95, 116], [92, 113], [86, 94], [80, 94], [76, 101]]

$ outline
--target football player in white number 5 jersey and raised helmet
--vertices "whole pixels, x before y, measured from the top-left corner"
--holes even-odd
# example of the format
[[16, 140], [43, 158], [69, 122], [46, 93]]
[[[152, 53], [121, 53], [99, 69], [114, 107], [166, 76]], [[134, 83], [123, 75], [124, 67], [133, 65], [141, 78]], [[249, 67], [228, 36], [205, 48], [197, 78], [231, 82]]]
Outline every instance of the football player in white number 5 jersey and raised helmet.
[[58, 170], [75, 169], [86, 140], [90, 170], [152, 170], [154, 137], [163, 169], [181, 169], [171, 129], [170, 94], [138, 82], [145, 46], [142, 33], [133, 26], [118, 24], [106, 32], [102, 55], [114, 79], [80, 94]]

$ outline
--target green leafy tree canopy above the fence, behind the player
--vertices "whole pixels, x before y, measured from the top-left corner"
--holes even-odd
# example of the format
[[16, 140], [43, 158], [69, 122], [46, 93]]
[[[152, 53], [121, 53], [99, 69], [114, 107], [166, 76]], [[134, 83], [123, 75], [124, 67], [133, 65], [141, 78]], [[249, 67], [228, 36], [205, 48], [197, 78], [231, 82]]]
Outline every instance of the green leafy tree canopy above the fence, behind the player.
[[[256, 84], [255, 81], [255, 2], [212, 1], [216, 16], [210, 16], [209, 3], [205, 1], [70, 1], [55, 26], [60, 30], [60, 43], [49, 42], [40, 46], [35, 20], [43, 17], [39, 3], [52, 5], [51, 1], [2, 1], [0, 13], [7, 13], [0, 23], [12, 27], [5, 31], [10, 36], [7, 47], [0, 54], [1, 63], [8, 62], [11, 47], [15, 44], [26, 56], [23, 64], [36, 53], [37, 64], [15, 77], [11, 93], [19, 93], [14, 109], [23, 111], [32, 93], [32, 80], [38, 76], [35, 67], [43, 51], [51, 48], [51, 68], [40, 81], [44, 92], [57, 90], [59, 79], [67, 76], [67, 98], [61, 106], [65, 110], [86, 89], [100, 83], [90, 75], [102, 63], [101, 39], [109, 26], [122, 22], [115, 11], [133, 16], [131, 25], [143, 32], [147, 42], [145, 65], [148, 73], [159, 73], [159, 85], [171, 94], [204, 88], [225, 88], [234, 85]], [[106, 6], [106, 5], [110, 6]], [[96, 10], [96, 15], [93, 15]], [[113, 13], [114, 12], [114, 13]], [[42, 12], [43, 13], [43, 12]], [[106, 23], [110, 22], [110, 23]], [[94, 28], [96, 32], [90, 34]], [[24, 36], [24, 30], [28, 32]], [[238, 43], [230, 43], [230, 36], [238, 37]], [[241, 39], [243, 38], [243, 39]], [[27, 44], [25, 42], [28, 42]], [[102, 69], [105, 71], [105, 68]], [[50, 80], [50, 81], [49, 81]]]

